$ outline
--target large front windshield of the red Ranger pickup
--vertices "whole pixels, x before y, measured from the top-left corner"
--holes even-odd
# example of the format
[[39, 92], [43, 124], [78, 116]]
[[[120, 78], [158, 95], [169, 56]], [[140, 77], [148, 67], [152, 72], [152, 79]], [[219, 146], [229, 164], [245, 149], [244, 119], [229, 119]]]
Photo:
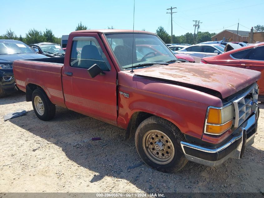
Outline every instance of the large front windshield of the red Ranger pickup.
[[[112, 47], [122, 69], [148, 63], [158, 64], [177, 59], [171, 50], [155, 35], [150, 34], [107, 34], [107, 40]], [[133, 58], [132, 58], [133, 56]]]

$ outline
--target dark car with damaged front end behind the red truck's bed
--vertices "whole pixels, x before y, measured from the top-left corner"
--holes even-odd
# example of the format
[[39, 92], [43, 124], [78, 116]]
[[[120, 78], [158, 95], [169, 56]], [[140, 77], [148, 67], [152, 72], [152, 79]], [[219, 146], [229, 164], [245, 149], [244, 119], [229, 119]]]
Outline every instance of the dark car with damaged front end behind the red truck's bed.
[[31, 47], [35, 52], [39, 54], [43, 54], [47, 57], [64, 57], [65, 51], [59, 44], [56, 43], [37, 43], [37, 44], [30, 44]]

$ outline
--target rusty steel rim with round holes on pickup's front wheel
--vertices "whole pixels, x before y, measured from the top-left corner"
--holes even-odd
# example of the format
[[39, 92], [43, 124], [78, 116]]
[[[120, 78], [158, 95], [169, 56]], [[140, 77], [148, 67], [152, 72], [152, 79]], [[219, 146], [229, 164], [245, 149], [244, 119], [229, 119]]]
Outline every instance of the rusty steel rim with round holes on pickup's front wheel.
[[162, 131], [148, 131], [144, 135], [142, 143], [146, 155], [153, 162], [168, 164], [172, 161], [175, 154], [174, 146], [172, 140]]

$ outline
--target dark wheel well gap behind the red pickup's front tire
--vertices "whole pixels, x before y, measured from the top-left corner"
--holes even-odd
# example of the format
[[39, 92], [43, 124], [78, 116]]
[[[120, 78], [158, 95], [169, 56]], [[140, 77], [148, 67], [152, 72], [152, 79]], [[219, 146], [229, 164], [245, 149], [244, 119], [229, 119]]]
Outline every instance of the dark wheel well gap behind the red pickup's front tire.
[[153, 114], [146, 113], [143, 111], [135, 112], [131, 116], [129, 124], [127, 126], [125, 140], [128, 140], [128, 139], [134, 137], [139, 124], [151, 116], [153, 116]]

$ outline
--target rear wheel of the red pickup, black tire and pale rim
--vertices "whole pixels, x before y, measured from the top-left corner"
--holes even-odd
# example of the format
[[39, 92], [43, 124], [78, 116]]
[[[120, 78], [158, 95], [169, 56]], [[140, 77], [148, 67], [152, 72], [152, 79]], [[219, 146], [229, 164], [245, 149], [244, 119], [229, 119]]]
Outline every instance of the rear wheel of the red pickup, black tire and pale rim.
[[51, 120], [56, 112], [55, 104], [52, 104], [42, 89], [33, 91], [32, 106], [37, 117], [43, 121]]

